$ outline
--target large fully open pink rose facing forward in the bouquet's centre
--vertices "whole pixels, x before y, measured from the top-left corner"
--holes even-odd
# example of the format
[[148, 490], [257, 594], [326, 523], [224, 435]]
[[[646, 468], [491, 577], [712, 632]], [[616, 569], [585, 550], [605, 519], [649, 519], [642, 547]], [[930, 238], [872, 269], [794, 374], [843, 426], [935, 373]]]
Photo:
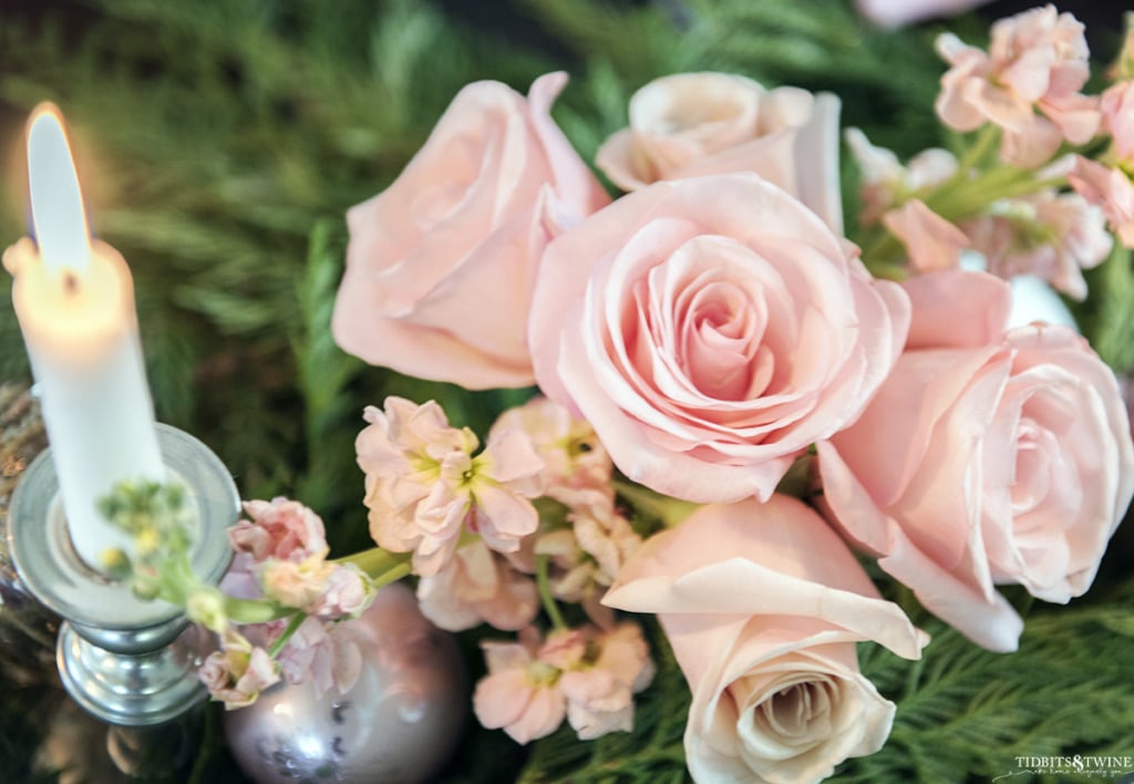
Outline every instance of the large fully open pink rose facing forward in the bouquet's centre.
[[696, 501], [768, 498], [853, 422], [902, 349], [908, 303], [754, 175], [657, 183], [553, 242], [531, 344], [615, 465]]

